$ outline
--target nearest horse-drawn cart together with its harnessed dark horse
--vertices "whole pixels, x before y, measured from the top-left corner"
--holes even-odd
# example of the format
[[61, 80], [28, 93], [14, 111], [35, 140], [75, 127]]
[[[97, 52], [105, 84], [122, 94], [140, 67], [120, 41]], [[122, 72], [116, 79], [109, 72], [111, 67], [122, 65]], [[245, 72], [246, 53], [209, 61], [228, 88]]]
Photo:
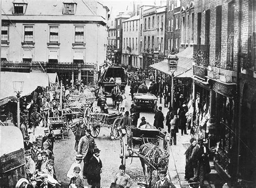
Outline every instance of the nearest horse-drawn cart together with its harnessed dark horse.
[[169, 147], [166, 135], [162, 130], [150, 128], [122, 129], [120, 158], [126, 164], [128, 157], [139, 157], [145, 175], [151, 184], [153, 170], [167, 170], [169, 162]]

